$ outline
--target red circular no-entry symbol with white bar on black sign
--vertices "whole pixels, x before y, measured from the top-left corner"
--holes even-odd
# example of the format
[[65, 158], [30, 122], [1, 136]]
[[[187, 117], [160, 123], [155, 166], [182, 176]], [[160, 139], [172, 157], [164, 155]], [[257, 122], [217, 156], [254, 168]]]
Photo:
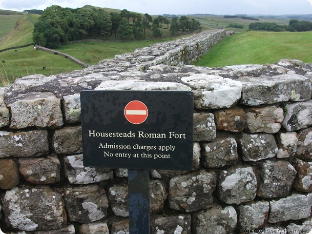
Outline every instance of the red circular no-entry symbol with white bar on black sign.
[[146, 105], [138, 100], [130, 101], [126, 104], [124, 113], [125, 118], [133, 124], [143, 123], [148, 116]]

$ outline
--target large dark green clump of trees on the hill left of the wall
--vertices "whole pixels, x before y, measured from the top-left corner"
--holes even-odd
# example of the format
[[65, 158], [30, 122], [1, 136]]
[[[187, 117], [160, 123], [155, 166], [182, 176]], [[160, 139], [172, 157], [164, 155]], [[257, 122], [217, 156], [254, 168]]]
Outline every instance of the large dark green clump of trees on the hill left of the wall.
[[33, 40], [47, 48], [58, 48], [80, 39], [144, 39], [146, 30], [150, 30], [153, 37], [162, 37], [162, 28], [169, 30], [171, 35], [201, 31], [200, 23], [186, 16], [168, 20], [126, 9], [108, 13], [101, 8], [71, 9], [54, 5], [47, 7], [35, 23]]

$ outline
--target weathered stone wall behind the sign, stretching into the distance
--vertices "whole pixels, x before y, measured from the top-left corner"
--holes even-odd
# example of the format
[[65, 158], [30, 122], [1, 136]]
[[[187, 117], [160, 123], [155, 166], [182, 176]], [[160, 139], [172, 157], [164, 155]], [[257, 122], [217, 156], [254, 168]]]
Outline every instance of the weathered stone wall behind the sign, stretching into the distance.
[[310, 231], [312, 64], [186, 65], [224, 35], [0, 88], [1, 230], [127, 233], [127, 170], [82, 162], [79, 93], [105, 89], [194, 93], [193, 170], [150, 171], [152, 234]]

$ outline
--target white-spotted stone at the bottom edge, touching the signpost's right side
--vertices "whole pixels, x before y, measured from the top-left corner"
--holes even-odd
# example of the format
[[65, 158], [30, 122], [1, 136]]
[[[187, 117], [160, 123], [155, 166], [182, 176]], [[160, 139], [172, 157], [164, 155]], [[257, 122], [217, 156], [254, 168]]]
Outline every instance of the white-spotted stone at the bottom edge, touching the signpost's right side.
[[191, 234], [191, 216], [178, 215], [154, 215], [151, 217], [151, 234]]

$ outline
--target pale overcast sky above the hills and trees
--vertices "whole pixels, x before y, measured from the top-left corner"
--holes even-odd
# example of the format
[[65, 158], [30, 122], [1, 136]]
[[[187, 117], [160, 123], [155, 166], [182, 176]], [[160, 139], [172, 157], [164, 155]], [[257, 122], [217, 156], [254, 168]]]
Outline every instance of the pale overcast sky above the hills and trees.
[[92, 5], [149, 15], [312, 14], [312, 0], [0, 0], [3, 10], [44, 10], [51, 5], [70, 8]]

